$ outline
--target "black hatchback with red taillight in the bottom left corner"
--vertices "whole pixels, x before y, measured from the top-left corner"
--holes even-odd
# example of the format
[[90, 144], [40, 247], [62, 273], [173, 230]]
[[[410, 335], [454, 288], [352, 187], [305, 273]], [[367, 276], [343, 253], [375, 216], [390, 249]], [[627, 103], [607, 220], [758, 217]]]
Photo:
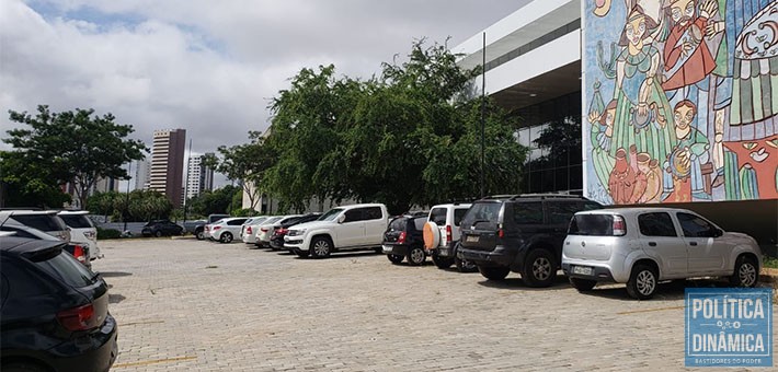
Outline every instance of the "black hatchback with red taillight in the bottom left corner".
[[0, 370], [107, 371], [118, 354], [108, 286], [67, 243], [0, 239]]

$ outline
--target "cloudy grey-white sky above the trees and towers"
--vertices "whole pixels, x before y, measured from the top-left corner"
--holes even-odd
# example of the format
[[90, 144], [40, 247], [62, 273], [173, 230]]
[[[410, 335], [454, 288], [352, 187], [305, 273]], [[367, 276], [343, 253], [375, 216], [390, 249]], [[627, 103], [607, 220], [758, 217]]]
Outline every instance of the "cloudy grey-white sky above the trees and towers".
[[245, 142], [301, 68], [367, 78], [414, 39], [456, 46], [528, 0], [2, 0], [0, 128], [8, 111], [113, 113], [193, 152]]

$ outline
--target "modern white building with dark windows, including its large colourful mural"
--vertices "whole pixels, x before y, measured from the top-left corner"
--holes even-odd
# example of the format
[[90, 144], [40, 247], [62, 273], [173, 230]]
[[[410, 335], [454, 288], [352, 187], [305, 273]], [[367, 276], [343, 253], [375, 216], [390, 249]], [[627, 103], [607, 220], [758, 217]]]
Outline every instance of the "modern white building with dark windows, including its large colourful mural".
[[[688, 208], [775, 254], [778, 2], [714, 3], [535, 0], [455, 47], [461, 67], [484, 66], [524, 144], [581, 124], [580, 155], [533, 149], [516, 191]], [[533, 168], [544, 155], [567, 159]]]

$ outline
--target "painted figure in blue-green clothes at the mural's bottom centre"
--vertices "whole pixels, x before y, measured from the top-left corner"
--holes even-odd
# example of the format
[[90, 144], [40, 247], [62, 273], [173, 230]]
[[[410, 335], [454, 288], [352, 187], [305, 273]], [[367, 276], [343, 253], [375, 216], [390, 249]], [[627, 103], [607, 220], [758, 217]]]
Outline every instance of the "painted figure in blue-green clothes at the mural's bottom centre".
[[710, 200], [706, 187], [710, 181], [703, 172], [703, 166], [708, 164], [709, 142], [705, 135], [693, 127], [697, 106], [691, 101], [684, 100], [676, 104], [674, 113], [675, 136], [678, 142], [665, 163], [672, 185], [667, 185], [663, 201], [687, 202], [693, 201], [693, 197], [694, 200]]

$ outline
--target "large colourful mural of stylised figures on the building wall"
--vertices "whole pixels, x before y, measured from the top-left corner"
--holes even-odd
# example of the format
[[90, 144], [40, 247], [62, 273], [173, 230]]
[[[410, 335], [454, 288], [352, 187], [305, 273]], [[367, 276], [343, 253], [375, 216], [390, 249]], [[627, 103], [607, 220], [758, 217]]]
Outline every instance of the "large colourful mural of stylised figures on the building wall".
[[586, 195], [778, 198], [778, 0], [584, 0]]

